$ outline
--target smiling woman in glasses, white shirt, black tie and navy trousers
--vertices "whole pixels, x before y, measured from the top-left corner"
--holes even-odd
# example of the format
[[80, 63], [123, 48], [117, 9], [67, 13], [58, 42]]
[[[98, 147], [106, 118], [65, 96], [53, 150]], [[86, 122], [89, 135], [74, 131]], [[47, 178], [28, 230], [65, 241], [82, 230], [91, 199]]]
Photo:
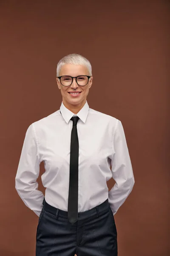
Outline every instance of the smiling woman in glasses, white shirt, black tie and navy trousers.
[[[57, 64], [60, 109], [26, 131], [16, 189], [39, 216], [36, 256], [118, 255], [114, 214], [134, 176], [122, 122], [88, 106], [92, 81], [88, 59], [63, 57]], [[45, 197], [37, 189], [42, 161]], [[111, 177], [116, 183], [108, 192]]]

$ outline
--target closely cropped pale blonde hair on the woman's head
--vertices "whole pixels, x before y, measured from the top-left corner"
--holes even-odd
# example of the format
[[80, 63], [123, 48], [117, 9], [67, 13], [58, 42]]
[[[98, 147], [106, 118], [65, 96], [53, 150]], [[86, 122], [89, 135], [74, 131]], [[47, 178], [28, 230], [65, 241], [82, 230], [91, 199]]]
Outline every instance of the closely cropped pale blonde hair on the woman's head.
[[60, 61], [57, 64], [57, 76], [59, 76], [61, 67], [64, 64], [84, 65], [88, 69], [89, 76], [92, 76], [92, 68], [91, 68], [90, 61], [88, 61], [87, 58], [83, 57], [80, 54], [72, 53], [72, 54], [68, 54], [65, 57], [63, 57], [62, 59], [60, 59]]

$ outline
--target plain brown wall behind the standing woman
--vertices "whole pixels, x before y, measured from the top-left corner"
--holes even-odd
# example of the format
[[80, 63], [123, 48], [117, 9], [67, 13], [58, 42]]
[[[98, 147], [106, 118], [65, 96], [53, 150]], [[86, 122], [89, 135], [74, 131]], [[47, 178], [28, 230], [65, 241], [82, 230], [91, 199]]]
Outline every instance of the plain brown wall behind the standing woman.
[[91, 61], [89, 107], [125, 130], [136, 183], [115, 215], [119, 256], [168, 256], [170, 3], [4, 0], [0, 29], [0, 256], [35, 255], [38, 217], [15, 175], [26, 129], [61, 105], [56, 65], [69, 53]]

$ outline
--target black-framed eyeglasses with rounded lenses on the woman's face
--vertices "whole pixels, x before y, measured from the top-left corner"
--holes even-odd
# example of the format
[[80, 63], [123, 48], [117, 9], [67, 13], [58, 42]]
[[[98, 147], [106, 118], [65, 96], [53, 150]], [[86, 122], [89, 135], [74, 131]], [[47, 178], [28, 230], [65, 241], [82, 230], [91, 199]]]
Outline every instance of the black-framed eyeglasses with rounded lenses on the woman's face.
[[70, 86], [74, 78], [76, 79], [76, 82], [78, 85], [85, 86], [86, 84], [88, 84], [90, 77], [91, 76], [85, 76], [85, 75], [74, 76], [74, 77], [73, 76], [57, 76], [57, 78], [59, 78], [63, 86]]

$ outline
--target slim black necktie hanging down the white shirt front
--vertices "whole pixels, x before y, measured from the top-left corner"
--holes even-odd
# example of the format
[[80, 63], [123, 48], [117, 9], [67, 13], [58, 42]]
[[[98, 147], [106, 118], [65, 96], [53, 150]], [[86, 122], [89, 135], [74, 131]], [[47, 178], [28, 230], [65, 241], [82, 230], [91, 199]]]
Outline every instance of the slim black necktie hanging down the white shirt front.
[[[60, 112], [61, 113], [61, 112]], [[78, 175], [79, 175], [79, 140], [77, 134], [78, 116], [73, 116], [70, 146], [70, 181], [68, 192], [68, 220], [74, 224], [78, 220]]]

